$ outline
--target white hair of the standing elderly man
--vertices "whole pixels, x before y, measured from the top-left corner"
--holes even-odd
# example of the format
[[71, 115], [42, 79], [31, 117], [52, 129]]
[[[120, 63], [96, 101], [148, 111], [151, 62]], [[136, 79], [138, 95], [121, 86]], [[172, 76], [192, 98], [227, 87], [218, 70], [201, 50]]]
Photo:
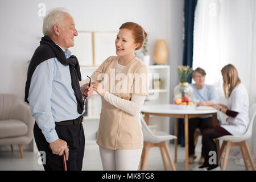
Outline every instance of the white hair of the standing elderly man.
[[44, 22], [43, 22], [44, 35], [51, 35], [53, 33], [53, 26], [55, 26], [55, 24], [59, 25], [61, 29], [64, 28], [64, 23], [63, 23], [64, 13], [69, 14], [68, 11], [64, 8], [52, 9], [47, 13], [46, 17], [44, 17]]

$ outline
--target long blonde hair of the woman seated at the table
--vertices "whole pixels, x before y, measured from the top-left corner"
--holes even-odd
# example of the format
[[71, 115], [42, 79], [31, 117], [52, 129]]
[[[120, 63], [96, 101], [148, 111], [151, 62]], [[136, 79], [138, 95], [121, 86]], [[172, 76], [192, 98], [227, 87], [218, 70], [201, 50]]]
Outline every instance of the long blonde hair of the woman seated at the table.
[[233, 89], [241, 83], [241, 80], [238, 77], [236, 67], [232, 64], [225, 65], [225, 67], [221, 69], [221, 74], [223, 77], [224, 95], [226, 98], [229, 98]]

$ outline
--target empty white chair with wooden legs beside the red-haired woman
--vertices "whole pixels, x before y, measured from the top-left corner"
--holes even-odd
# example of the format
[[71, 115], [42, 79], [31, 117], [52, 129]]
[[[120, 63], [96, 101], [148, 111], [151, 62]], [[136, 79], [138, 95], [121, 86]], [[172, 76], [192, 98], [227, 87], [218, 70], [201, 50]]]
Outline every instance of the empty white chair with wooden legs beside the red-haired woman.
[[142, 123], [142, 133], [144, 138], [144, 147], [141, 156], [141, 170], [144, 171], [147, 165], [147, 158], [151, 147], [159, 147], [162, 155], [162, 160], [164, 164], [164, 170], [167, 170], [166, 159], [164, 157], [164, 151], [166, 151], [167, 158], [170, 162], [172, 170], [176, 171], [174, 162], [172, 161], [172, 157], [170, 154], [170, 150], [166, 141], [176, 139], [174, 135], [170, 135], [168, 133], [164, 133], [162, 131], [158, 131], [156, 133], [152, 133], [148, 128], [146, 122], [144, 121], [141, 115], [141, 123]]

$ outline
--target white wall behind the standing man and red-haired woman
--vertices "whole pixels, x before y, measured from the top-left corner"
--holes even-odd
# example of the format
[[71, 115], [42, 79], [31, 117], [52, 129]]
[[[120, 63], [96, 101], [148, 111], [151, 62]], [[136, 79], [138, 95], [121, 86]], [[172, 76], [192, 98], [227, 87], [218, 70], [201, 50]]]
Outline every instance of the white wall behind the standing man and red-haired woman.
[[[77, 30], [117, 30], [122, 23], [141, 24], [148, 32], [148, 51], [151, 54], [156, 39], [166, 39], [170, 51], [171, 90], [177, 85], [177, 65], [182, 59], [181, 0], [1, 0], [0, 1], [0, 93], [17, 94], [24, 99], [27, 61], [39, 46], [43, 17], [38, 16], [38, 4], [46, 9], [64, 7], [75, 19]], [[151, 60], [151, 64], [154, 61]], [[171, 100], [172, 100], [171, 92]]]

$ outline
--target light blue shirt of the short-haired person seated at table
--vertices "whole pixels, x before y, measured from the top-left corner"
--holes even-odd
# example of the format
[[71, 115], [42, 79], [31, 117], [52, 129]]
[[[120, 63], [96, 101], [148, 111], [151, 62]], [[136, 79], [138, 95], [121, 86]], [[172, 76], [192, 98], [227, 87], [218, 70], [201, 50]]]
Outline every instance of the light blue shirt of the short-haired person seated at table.
[[[213, 85], [204, 84], [204, 88], [200, 90], [196, 88], [196, 84], [190, 84], [190, 85], [193, 88], [193, 100], [212, 101], [213, 104], [220, 103], [220, 101], [218, 100], [218, 94]], [[212, 115], [206, 115], [200, 118], [208, 118], [211, 116]], [[221, 121], [218, 113], [217, 113], [217, 118], [218, 118], [218, 121]]]

